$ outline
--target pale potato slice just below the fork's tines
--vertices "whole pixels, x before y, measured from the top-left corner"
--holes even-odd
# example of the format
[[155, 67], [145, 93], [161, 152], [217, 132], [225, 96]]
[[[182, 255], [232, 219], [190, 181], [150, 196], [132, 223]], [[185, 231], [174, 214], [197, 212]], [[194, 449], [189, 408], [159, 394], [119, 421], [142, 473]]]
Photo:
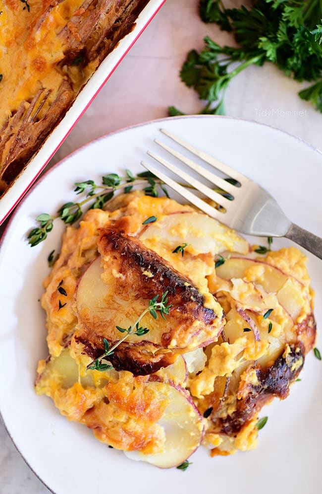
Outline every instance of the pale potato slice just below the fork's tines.
[[139, 238], [143, 243], [150, 239], [159, 239], [163, 244], [168, 244], [171, 251], [178, 245], [187, 243], [187, 252], [193, 255], [215, 255], [224, 250], [247, 254], [249, 251], [248, 242], [234, 230], [198, 212], [163, 216], [157, 222], [148, 224]]

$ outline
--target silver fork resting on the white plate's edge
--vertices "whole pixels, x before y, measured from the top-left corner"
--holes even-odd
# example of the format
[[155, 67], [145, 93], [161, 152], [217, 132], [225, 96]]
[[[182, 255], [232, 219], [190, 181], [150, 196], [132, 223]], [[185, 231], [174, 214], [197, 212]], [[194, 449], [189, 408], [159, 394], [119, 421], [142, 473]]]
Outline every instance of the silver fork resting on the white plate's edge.
[[160, 129], [160, 131], [190, 151], [190, 153], [198, 156], [230, 178], [230, 181], [228, 182], [227, 180], [218, 177], [215, 173], [200, 166], [198, 163], [195, 163], [192, 159], [184, 156], [175, 149], [172, 149], [159, 141], [159, 139], [155, 139], [155, 142], [172, 156], [178, 158], [185, 165], [192, 168], [195, 172], [214, 184], [215, 190], [193, 178], [189, 173], [181, 170], [161, 156], [158, 156], [151, 151], [147, 151], [149, 156], [156, 159], [161, 165], [165, 166], [168, 170], [183, 179], [196, 190], [200, 191], [203, 195], [215, 201], [215, 203], [219, 205], [219, 208], [215, 209], [210, 206], [190, 190], [178, 184], [154, 166], [142, 161], [142, 165], [147, 170], [154, 173], [162, 182], [171, 187], [171, 189], [176, 191], [199, 210], [209, 214], [209, 216], [221, 221], [230, 228], [234, 228], [239, 232], [248, 235], [289, 238], [322, 259], [322, 238], [292, 223], [282, 212], [275, 199], [273, 199], [265, 189], [207, 152], [192, 146], [188, 142], [183, 141], [164, 129]]

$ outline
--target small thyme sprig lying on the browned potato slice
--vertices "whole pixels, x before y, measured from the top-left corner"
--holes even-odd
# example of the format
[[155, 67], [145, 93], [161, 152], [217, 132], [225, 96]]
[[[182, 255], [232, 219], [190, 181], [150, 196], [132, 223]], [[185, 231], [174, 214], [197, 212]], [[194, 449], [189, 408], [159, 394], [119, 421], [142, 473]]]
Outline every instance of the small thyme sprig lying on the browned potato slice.
[[128, 328], [121, 328], [120, 326], [116, 326], [116, 329], [120, 333], [125, 333], [123, 338], [121, 338], [117, 343], [115, 343], [115, 345], [113, 345], [112, 348], [110, 348], [107, 339], [104, 338], [103, 355], [90, 362], [87, 365], [86, 369], [102, 370], [102, 371], [112, 369], [113, 368], [112, 365], [103, 363], [102, 360], [108, 360], [107, 357], [112, 355], [114, 353], [114, 350], [121, 343], [123, 343], [130, 335], [143, 336], [149, 333], [150, 330], [148, 328], [145, 328], [144, 326], [140, 326], [140, 322], [146, 314], [150, 313], [154, 319], [158, 319], [158, 312], [161, 314], [161, 317], [163, 319], [165, 319], [165, 316], [169, 314], [172, 305], [168, 304], [167, 294], [168, 294], [167, 291], [162, 293], [160, 302], [158, 302], [159, 295], [155, 295], [153, 298], [151, 298], [151, 300], [149, 301], [149, 306], [140, 314], [140, 316], [133, 325], [129, 326]]

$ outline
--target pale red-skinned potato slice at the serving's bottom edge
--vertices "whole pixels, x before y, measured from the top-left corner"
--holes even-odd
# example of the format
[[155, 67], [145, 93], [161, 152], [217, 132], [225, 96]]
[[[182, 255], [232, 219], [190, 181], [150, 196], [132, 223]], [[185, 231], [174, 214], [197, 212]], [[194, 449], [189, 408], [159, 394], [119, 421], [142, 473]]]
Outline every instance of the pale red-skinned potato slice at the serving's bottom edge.
[[204, 420], [194, 405], [190, 394], [180, 386], [151, 383], [168, 401], [161, 419], [157, 422], [165, 432], [163, 451], [144, 454], [140, 451], [125, 451], [131, 460], [144, 461], [160, 468], [181, 465], [200, 446], [204, 436]]

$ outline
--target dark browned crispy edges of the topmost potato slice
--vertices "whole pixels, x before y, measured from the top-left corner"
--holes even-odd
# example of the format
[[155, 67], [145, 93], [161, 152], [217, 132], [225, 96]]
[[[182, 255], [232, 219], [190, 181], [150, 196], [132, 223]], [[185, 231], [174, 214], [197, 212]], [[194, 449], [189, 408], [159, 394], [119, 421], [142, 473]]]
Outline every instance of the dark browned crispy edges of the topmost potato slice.
[[[202, 320], [206, 325], [214, 323], [217, 314], [213, 309], [204, 306], [204, 297], [194, 282], [174, 270], [157, 253], [147, 249], [140, 240], [108, 227], [101, 230], [98, 245], [103, 257], [110, 252], [119, 255], [123, 273], [135, 273], [143, 298], [149, 300], [156, 294], [161, 296], [167, 290], [168, 303], [172, 304], [170, 309], [172, 317], [184, 318], [188, 323], [192, 323], [195, 319]], [[144, 274], [146, 270], [149, 270], [153, 276], [146, 276]], [[104, 353], [101, 337], [96, 341], [90, 338], [92, 341], [89, 341], [88, 337], [79, 335], [75, 339], [84, 345], [83, 353], [93, 359]], [[165, 333], [162, 336], [163, 347], [157, 347], [155, 355], [145, 353], [145, 341], [142, 339], [138, 344], [124, 342], [109, 360], [116, 370], [129, 370], [134, 375], [148, 375], [175, 360], [174, 352], [160, 352], [168, 348], [170, 341], [171, 332]], [[111, 346], [114, 343], [109, 342]]]

